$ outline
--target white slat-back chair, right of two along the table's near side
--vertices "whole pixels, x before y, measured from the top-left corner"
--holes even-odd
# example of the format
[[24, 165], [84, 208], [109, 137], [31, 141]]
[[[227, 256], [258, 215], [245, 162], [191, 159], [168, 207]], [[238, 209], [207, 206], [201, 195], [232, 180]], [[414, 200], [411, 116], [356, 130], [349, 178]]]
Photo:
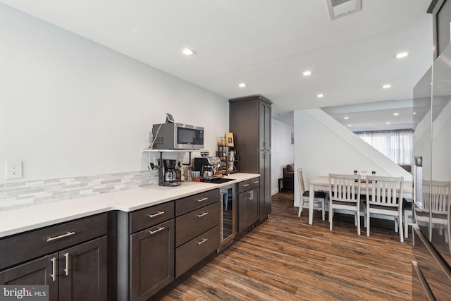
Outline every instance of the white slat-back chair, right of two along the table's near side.
[[370, 214], [393, 216], [395, 231], [400, 233], [400, 242], [404, 242], [402, 226], [402, 189], [404, 177], [366, 176], [365, 226], [366, 236], [370, 231]]

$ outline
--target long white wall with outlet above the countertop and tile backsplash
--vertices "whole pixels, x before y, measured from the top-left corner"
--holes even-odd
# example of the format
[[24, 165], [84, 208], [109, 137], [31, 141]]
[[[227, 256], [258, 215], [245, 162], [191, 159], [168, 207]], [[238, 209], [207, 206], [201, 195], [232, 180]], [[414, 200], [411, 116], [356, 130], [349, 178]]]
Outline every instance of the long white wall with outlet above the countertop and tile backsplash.
[[0, 41], [0, 183], [145, 168], [165, 112], [204, 126], [213, 154], [228, 130], [227, 99], [2, 4]]

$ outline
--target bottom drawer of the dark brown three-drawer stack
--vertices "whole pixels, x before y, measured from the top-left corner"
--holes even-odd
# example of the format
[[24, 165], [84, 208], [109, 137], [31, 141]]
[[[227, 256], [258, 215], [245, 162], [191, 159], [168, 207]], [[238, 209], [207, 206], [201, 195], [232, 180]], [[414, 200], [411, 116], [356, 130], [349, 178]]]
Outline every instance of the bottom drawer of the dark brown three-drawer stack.
[[178, 277], [219, 247], [219, 226], [197, 236], [175, 250], [175, 277]]

